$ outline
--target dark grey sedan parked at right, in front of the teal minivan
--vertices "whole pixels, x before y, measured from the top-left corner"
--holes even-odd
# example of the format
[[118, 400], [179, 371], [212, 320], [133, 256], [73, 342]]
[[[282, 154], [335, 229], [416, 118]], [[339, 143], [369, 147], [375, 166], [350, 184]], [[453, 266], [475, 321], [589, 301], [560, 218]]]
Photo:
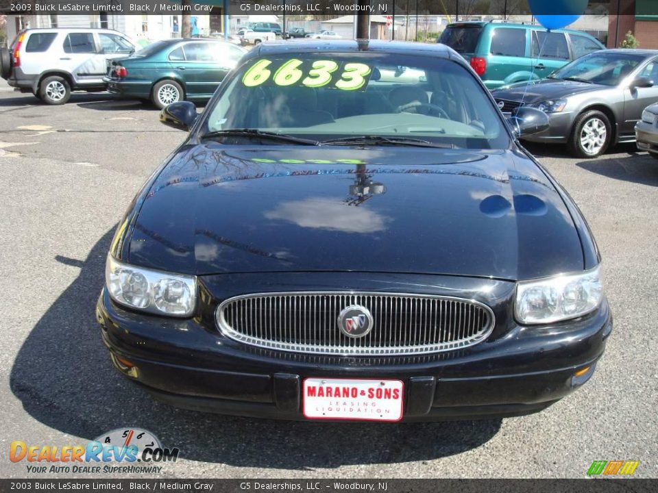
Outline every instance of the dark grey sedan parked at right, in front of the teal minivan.
[[598, 51], [544, 80], [492, 94], [503, 112], [524, 105], [548, 114], [550, 127], [527, 140], [567, 144], [573, 155], [596, 157], [611, 144], [635, 140], [642, 111], [658, 101], [658, 51]]

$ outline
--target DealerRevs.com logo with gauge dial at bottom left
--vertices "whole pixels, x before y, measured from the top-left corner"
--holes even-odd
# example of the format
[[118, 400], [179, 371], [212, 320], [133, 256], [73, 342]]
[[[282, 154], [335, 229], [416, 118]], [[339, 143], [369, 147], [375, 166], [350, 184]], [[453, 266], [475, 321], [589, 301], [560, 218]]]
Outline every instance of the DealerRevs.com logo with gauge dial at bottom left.
[[175, 462], [178, 448], [165, 448], [153, 433], [139, 428], [120, 428], [103, 433], [87, 444], [10, 444], [12, 462], [27, 462], [36, 473], [159, 473], [162, 462]]

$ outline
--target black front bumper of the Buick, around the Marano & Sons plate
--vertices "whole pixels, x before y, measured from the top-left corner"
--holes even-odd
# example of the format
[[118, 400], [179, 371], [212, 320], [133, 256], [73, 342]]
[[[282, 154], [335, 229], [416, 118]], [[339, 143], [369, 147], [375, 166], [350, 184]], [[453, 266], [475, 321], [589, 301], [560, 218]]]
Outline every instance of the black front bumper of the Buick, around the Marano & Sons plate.
[[97, 318], [114, 366], [156, 399], [205, 412], [290, 420], [306, 419], [301, 389], [307, 377], [400, 379], [404, 421], [537, 412], [592, 376], [612, 329], [604, 302], [593, 314], [568, 323], [508, 327], [498, 336], [494, 331], [493, 340], [465, 350], [336, 357], [247, 346], [208, 327], [203, 316], [138, 314], [114, 303], [106, 290]]

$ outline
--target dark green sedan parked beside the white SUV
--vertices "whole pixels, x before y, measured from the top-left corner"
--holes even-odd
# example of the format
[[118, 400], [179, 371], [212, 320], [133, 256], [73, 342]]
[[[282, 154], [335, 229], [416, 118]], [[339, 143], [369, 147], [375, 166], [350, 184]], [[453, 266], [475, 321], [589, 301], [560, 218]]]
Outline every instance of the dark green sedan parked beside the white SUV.
[[220, 40], [158, 41], [112, 60], [103, 82], [109, 92], [151, 100], [160, 109], [176, 101], [210, 99], [246, 52]]

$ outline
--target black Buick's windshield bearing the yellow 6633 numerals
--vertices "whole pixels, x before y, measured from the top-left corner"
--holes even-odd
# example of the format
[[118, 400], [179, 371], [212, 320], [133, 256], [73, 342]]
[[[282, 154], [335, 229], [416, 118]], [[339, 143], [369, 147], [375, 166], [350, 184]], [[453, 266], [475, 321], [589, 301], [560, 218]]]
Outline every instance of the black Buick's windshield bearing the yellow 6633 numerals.
[[461, 64], [429, 56], [253, 58], [234, 73], [208, 112], [206, 132], [258, 129], [319, 142], [383, 136], [470, 149], [509, 146], [504, 123], [474, 75]]

